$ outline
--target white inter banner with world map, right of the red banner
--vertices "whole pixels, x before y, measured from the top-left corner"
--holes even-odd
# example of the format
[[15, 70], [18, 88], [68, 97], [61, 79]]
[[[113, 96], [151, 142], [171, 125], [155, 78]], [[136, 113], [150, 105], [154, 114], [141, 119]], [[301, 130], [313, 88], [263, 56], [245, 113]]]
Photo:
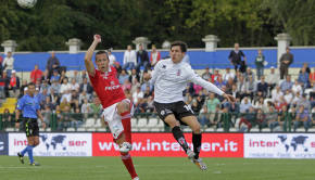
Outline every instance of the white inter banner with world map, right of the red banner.
[[244, 157], [315, 158], [315, 134], [245, 133]]

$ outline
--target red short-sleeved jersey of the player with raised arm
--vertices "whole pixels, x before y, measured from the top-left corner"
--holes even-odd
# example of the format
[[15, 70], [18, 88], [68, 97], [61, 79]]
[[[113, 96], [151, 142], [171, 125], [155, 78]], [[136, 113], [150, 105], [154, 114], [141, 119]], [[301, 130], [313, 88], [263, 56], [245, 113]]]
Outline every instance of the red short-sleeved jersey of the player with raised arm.
[[96, 69], [94, 76], [92, 77], [89, 75], [89, 78], [103, 105], [103, 108], [126, 99], [126, 95], [117, 79], [115, 67], [110, 66], [110, 70], [105, 73], [101, 73]]

